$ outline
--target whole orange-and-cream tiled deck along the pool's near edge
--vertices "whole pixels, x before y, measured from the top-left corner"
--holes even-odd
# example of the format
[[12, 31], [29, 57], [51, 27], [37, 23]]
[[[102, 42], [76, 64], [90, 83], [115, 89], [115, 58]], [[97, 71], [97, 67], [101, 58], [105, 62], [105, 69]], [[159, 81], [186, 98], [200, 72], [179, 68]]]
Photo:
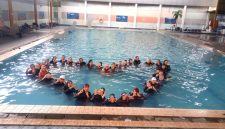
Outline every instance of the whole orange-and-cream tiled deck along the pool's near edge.
[[1, 126], [225, 128], [225, 110], [0, 105], [0, 114]]

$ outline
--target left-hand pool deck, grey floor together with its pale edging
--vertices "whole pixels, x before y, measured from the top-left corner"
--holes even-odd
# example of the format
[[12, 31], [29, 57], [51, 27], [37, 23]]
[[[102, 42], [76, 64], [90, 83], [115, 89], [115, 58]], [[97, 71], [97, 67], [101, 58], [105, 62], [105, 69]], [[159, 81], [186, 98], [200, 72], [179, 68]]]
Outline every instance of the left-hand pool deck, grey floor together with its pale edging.
[[58, 33], [63, 34], [67, 28], [66, 26], [58, 26], [52, 29], [41, 29], [25, 34], [23, 38], [0, 38], [0, 61], [50, 40]]

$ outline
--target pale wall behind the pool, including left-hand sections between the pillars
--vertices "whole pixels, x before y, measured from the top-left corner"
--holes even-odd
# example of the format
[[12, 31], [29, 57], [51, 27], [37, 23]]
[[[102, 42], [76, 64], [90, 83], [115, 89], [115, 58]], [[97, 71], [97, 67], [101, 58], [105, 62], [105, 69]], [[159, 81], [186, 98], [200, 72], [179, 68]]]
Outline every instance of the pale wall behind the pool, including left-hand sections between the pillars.
[[[53, 21], [60, 24], [119, 27], [119, 28], [144, 28], [144, 29], [170, 29], [173, 24], [165, 23], [165, 19], [172, 19], [172, 12], [183, 10], [184, 22], [179, 18], [177, 25], [183, 28], [202, 29], [208, 24], [209, 6], [188, 5], [185, 11], [184, 5], [159, 5], [159, 4], [134, 4], [134, 3], [111, 3], [93, 1], [62, 1], [58, 8], [58, 19]], [[0, 19], [9, 26], [8, 2], [0, 0]], [[49, 22], [49, 4], [37, 5], [39, 23]], [[19, 2], [13, 0], [14, 23], [32, 24], [34, 22], [34, 5], [32, 2]], [[68, 18], [69, 13], [78, 15], [76, 19]], [[25, 16], [24, 16], [25, 15]], [[53, 15], [54, 16], [54, 15]], [[126, 21], [117, 21], [117, 16], [125, 16]], [[25, 17], [25, 18], [24, 18]], [[99, 22], [99, 20], [102, 22]]]

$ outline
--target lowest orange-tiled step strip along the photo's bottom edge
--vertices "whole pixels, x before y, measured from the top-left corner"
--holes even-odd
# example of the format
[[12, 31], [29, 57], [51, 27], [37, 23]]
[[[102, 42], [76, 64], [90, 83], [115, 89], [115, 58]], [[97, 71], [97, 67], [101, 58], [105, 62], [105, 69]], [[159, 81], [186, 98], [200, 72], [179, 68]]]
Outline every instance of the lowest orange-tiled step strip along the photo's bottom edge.
[[75, 126], [75, 127], [129, 127], [129, 128], [197, 128], [225, 129], [225, 123], [165, 122], [165, 121], [113, 121], [72, 119], [1, 118], [0, 125], [7, 126]]

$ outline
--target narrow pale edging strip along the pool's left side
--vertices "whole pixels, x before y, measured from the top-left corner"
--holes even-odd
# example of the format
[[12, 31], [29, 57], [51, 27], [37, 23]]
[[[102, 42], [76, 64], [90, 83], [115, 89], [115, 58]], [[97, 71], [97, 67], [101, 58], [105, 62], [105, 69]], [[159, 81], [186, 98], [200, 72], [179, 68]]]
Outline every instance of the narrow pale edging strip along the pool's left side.
[[30, 49], [30, 48], [32, 48], [36, 45], [39, 45], [39, 44], [41, 44], [45, 41], [50, 40], [52, 38], [56, 38], [57, 35], [62, 35], [64, 33], [65, 33], [65, 30], [59, 30], [57, 32], [48, 33], [46, 36], [42, 36], [38, 39], [35, 39], [35, 40], [32, 40], [32, 41], [28, 42], [26, 45], [19, 46], [17, 48], [14, 48], [13, 50], [10, 50], [8, 52], [5, 52], [5, 53], [1, 54], [0, 55], [0, 61], [3, 61], [3, 60], [8, 59], [12, 56], [15, 56], [15, 55], [27, 50], [27, 49]]

